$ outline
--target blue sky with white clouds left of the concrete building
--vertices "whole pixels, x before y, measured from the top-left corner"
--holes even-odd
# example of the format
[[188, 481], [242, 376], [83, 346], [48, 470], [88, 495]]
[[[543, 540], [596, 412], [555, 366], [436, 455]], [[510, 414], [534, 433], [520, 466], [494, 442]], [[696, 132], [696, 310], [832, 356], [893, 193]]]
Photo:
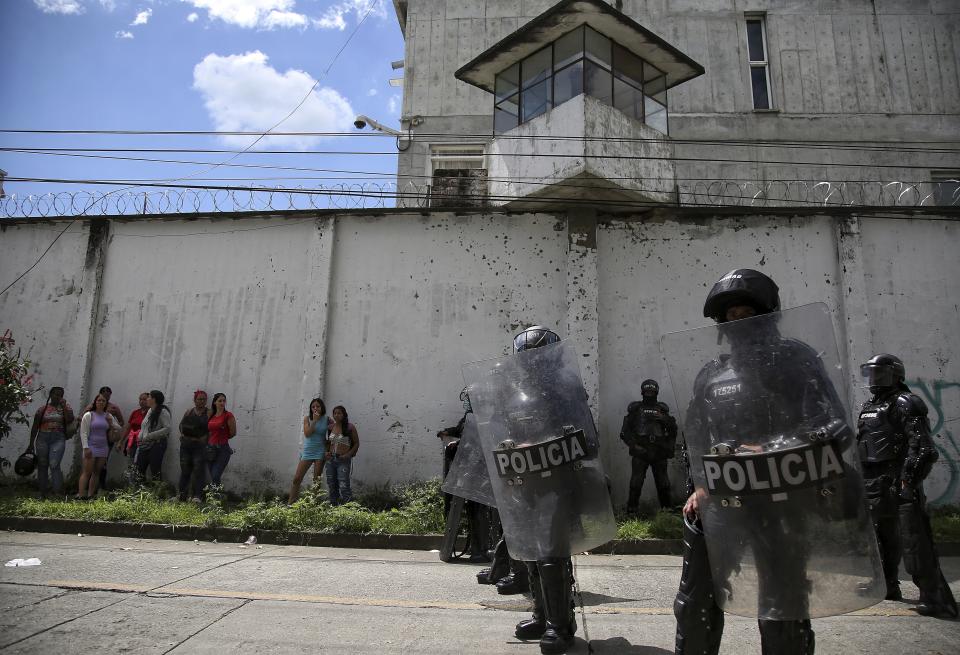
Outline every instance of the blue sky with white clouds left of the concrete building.
[[[363, 25], [324, 76], [371, 3]], [[265, 131], [293, 110], [317, 79], [317, 89], [277, 131], [350, 132], [355, 114], [398, 127], [400, 116], [401, 89], [389, 86], [388, 80], [403, 73], [390, 66], [403, 59], [403, 38], [389, 0], [3, 0], [0, 57], [0, 129]], [[251, 141], [0, 133], [0, 146], [6, 148], [240, 149]], [[356, 137], [268, 137], [256, 149], [396, 152], [392, 139]], [[204, 162], [231, 157], [119, 154]], [[231, 163], [389, 175], [396, 169], [396, 155], [247, 153]], [[0, 168], [10, 177], [31, 178], [184, 177], [188, 183], [261, 178], [209, 181], [241, 186], [330, 184], [334, 180], [264, 178], [339, 175], [229, 166], [207, 171], [209, 166], [200, 164], [8, 151], [0, 152]], [[4, 186], [8, 195], [77, 188], [11, 181]], [[101, 192], [109, 188], [81, 187]]]

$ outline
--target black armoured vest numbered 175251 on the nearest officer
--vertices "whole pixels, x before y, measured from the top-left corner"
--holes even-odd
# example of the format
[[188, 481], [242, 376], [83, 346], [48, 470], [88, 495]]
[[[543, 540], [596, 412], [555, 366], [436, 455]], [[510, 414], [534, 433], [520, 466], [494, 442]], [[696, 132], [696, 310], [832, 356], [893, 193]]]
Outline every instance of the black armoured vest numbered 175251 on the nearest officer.
[[[785, 364], [782, 371], [790, 371]], [[795, 382], [795, 381], [794, 381]], [[791, 381], [775, 371], [758, 371], [724, 357], [705, 380], [702, 402], [712, 442], [733, 448], [789, 436], [804, 420], [802, 401]]]

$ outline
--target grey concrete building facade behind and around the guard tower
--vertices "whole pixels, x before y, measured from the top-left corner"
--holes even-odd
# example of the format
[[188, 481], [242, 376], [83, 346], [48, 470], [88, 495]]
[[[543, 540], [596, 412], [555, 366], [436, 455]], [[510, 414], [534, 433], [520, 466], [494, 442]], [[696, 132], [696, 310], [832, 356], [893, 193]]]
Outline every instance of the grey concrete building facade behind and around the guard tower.
[[[497, 184], [494, 172], [503, 164], [496, 161], [499, 148], [491, 148], [493, 95], [455, 73], [558, 4], [394, 0], [406, 39], [401, 122], [413, 135], [400, 155], [401, 184], [429, 184], [434, 160], [458, 146], [482, 148], [491, 186]], [[742, 204], [759, 195], [796, 206], [832, 193], [841, 204], [891, 204], [900, 187], [884, 184], [920, 184], [918, 193], [926, 196], [931, 182], [960, 176], [956, 2], [607, 4], [704, 69], [667, 92], [675, 202]], [[759, 54], [752, 47], [757, 39]], [[754, 69], [766, 79], [765, 103], [755, 97]], [[527, 129], [541, 139], [591, 136], [569, 119], [539, 132], [534, 125]], [[545, 151], [556, 145], [542, 143]], [[623, 154], [623, 144], [615, 147], [608, 154]], [[657, 171], [633, 171], [638, 180], [663, 183]], [[810, 191], [797, 182], [831, 186]]]

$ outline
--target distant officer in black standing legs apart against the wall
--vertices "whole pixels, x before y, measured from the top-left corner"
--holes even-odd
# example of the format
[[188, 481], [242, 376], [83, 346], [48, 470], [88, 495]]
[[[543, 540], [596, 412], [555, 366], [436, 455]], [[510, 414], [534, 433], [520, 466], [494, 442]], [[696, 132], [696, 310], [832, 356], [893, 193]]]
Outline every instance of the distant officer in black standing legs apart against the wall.
[[644, 380], [640, 384], [642, 400], [630, 403], [627, 415], [623, 417], [620, 439], [627, 444], [633, 460], [627, 512], [637, 511], [648, 468], [653, 469], [660, 507], [666, 509], [671, 504], [667, 460], [673, 458], [676, 447], [677, 421], [670, 416], [667, 404], [657, 400], [659, 393], [660, 385], [656, 380]]

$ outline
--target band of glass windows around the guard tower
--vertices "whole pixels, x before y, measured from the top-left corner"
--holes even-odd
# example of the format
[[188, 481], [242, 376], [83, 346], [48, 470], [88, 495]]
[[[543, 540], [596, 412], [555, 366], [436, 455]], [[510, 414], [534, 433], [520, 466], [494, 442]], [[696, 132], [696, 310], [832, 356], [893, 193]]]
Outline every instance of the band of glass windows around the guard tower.
[[668, 133], [666, 75], [588, 25], [503, 70], [494, 86], [494, 134], [581, 93]]

